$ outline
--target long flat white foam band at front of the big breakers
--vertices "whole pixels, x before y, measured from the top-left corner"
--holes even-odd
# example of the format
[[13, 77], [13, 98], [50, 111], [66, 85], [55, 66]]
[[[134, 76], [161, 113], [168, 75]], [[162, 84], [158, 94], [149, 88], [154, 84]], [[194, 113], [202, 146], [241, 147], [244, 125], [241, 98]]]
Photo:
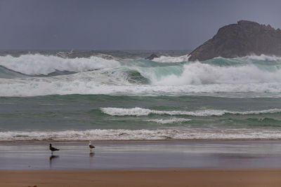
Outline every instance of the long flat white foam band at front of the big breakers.
[[[108, 83], [108, 81], [107, 81]], [[211, 85], [112, 85], [86, 78], [0, 78], [0, 96], [30, 97], [38, 95], [141, 95], [181, 96], [207, 95], [215, 97], [281, 97], [281, 83], [211, 84]], [[123, 83], [125, 84], [125, 83]]]

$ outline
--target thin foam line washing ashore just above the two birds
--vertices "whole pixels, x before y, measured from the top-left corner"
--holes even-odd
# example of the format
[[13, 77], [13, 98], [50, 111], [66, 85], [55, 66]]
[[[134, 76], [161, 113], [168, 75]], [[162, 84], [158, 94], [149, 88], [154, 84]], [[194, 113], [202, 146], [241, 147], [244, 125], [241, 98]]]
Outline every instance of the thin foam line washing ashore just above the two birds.
[[10, 131], [0, 132], [0, 141], [55, 140], [160, 140], [160, 139], [281, 139], [280, 130], [196, 129], [185, 130], [83, 130], [83, 131]]

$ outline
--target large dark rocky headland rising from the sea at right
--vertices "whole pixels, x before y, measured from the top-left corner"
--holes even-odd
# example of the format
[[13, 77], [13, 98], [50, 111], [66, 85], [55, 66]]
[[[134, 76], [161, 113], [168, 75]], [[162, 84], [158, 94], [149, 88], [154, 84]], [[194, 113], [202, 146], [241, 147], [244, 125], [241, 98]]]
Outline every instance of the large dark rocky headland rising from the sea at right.
[[270, 25], [241, 20], [226, 25], [218, 33], [189, 54], [190, 61], [214, 57], [243, 57], [246, 55], [281, 56], [281, 30]]

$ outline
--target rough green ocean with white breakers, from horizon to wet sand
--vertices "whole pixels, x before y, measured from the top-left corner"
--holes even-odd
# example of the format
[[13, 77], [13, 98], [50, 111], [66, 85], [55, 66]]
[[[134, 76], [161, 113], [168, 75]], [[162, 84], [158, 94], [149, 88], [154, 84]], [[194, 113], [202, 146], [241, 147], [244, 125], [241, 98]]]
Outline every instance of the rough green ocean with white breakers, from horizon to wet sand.
[[0, 141], [281, 139], [281, 57], [188, 53], [1, 51]]

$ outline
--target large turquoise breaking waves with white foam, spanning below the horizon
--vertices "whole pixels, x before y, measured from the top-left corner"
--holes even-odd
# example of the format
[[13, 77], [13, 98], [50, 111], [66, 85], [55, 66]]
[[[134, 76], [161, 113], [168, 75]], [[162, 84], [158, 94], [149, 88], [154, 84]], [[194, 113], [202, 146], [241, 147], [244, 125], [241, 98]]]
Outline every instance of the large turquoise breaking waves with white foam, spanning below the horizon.
[[[158, 63], [119, 62], [102, 57], [0, 56], [0, 96], [281, 95], [281, 57], [218, 57], [204, 62], [186, 62], [185, 57], [159, 57]], [[183, 60], [184, 63], [171, 63]], [[57, 71], [72, 74], [53, 74]], [[53, 75], [41, 76], [50, 74]]]

